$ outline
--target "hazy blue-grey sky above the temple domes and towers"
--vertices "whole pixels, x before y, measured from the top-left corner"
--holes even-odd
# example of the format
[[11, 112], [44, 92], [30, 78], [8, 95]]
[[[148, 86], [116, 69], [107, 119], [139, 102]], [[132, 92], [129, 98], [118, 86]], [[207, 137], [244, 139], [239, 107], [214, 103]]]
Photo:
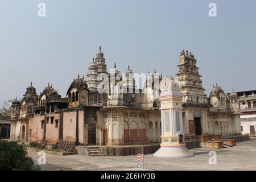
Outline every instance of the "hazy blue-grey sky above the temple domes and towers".
[[0, 0], [0, 102], [22, 98], [31, 81], [38, 94], [49, 82], [65, 97], [99, 46], [108, 71], [116, 62], [175, 77], [188, 49], [206, 94], [216, 82], [226, 93], [256, 89], [255, 19], [255, 0]]

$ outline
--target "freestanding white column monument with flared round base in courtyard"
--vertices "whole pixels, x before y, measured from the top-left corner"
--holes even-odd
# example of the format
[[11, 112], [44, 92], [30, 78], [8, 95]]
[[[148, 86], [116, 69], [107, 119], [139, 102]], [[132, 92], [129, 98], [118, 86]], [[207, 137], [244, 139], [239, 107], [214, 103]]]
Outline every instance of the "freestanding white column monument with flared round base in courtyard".
[[183, 121], [182, 121], [182, 97], [179, 92], [179, 83], [172, 77], [164, 77], [160, 82], [161, 102], [161, 126], [162, 143], [154, 156], [159, 158], [181, 158], [193, 156], [193, 153], [185, 148]]

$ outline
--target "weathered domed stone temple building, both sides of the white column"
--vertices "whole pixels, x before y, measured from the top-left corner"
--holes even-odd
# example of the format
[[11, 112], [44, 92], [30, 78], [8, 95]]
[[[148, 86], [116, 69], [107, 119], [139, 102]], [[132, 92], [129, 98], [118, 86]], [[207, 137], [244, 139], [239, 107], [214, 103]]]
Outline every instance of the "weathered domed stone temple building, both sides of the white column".
[[[183, 98], [186, 139], [241, 134], [239, 105], [234, 105], [238, 98], [229, 98], [217, 84], [207, 97], [196, 62], [191, 53], [180, 53], [176, 81]], [[160, 142], [162, 76], [147, 74], [143, 88], [137, 88], [133, 76], [130, 67], [121, 73], [117, 64], [108, 73], [100, 47], [86, 78], [78, 75], [66, 96], [49, 84], [39, 95], [32, 83], [28, 86], [22, 100], [11, 106], [11, 139], [109, 146]]]

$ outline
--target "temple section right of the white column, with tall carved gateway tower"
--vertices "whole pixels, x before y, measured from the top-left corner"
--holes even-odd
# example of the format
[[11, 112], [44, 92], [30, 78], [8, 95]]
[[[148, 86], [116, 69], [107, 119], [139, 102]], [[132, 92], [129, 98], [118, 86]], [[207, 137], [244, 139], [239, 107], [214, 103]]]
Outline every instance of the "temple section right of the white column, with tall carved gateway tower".
[[241, 134], [240, 105], [236, 93], [227, 96], [218, 84], [209, 97], [204, 93], [195, 56], [181, 51], [176, 80], [183, 97], [183, 128], [186, 137], [194, 135]]

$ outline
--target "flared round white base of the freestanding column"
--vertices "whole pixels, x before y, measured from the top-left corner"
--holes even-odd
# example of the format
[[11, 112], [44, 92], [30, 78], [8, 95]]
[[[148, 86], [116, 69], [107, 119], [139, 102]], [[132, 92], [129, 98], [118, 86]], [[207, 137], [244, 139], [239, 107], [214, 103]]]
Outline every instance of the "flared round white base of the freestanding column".
[[194, 154], [185, 147], [185, 144], [172, 146], [160, 144], [160, 148], [154, 156], [158, 158], [188, 158], [194, 156]]

